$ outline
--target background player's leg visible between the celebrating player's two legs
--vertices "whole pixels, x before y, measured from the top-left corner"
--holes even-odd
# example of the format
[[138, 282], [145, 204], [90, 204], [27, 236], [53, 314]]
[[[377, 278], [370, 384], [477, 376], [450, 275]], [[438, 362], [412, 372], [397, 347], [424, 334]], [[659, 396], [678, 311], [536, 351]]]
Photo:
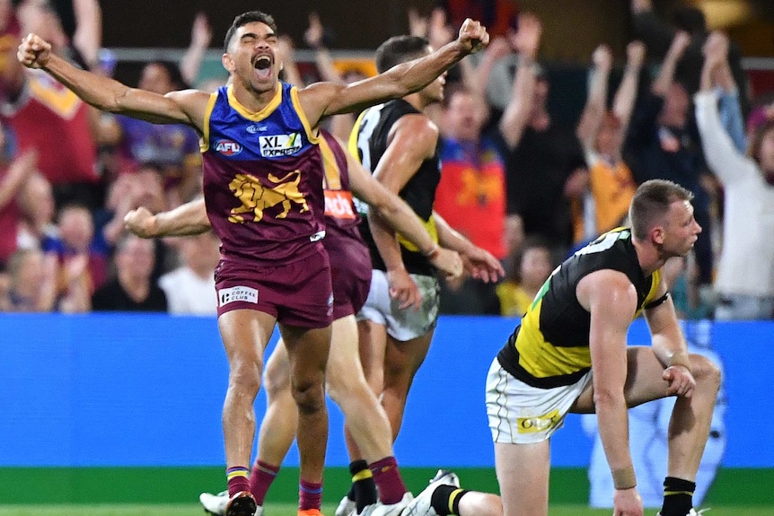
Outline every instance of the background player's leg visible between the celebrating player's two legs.
[[290, 360], [285, 342], [279, 339], [268, 357], [263, 374], [266, 413], [258, 434], [258, 457], [252, 465], [250, 491], [263, 505], [271, 483], [277, 477], [282, 461], [295, 440], [298, 415], [290, 389]]

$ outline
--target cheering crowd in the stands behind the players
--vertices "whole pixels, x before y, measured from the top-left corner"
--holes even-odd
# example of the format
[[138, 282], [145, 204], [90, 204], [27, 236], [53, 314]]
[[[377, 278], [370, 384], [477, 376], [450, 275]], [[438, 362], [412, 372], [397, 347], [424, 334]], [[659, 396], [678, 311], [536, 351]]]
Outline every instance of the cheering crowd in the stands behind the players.
[[[60, 4], [0, 0], [0, 311], [214, 314], [215, 236], [143, 240], [123, 222], [139, 206], [156, 213], [200, 195], [198, 136], [101, 113], [21, 66], [16, 47], [35, 31], [79, 66], [113, 73], [98, 2], [74, 0], [65, 13]], [[466, 4], [412, 10], [407, 30], [437, 48]], [[522, 315], [564, 258], [626, 224], [639, 183], [661, 178], [690, 189], [703, 228], [690, 257], [670, 264], [681, 315], [774, 318], [774, 104], [746, 94], [733, 41], [708, 31], [698, 9], [664, 20], [650, 0], [631, 0], [625, 62], [605, 44], [594, 50], [585, 106], [567, 124], [550, 110], [544, 23], [506, 5], [468, 14], [493, 39], [450, 70], [429, 113], [443, 136], [435, 211], [507, 275], [444, 281], [442, 312]], [[312, 13], [303, 41], [281, 39], [286, 82], [365, 77], [335, 65], [326, 34]], [[198, 14], [180, 63], [148, 62], [137, 87], [214, 91], [225, 76], [198, 78], [211, 42]], [[295, 66], [296, 44], [314, 51], [313, 77]], [[354, 122], [337, 116], [328, 128], [347, 139]]]

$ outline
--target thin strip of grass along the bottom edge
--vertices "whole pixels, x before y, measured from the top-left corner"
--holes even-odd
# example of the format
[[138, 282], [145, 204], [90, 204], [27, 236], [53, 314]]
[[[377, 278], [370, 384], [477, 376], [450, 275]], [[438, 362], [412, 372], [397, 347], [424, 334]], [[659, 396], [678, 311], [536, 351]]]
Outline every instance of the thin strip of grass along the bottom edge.
[[[266, 516], [295, 516], [295, 504], [275, 503], [266, 507]], [[333, 505], [322, 512], [333, 516]], [[646, 516], [657, 511], [646, 510]], [[0, 505], [0, 516], [202, 516], [199, 505]], [[550, 516], [610, 516], [611, 511], [589, 509], [582, 505], [552, 505]], [[774, 516], [774, 507], [712, 507], [706, 516]]]

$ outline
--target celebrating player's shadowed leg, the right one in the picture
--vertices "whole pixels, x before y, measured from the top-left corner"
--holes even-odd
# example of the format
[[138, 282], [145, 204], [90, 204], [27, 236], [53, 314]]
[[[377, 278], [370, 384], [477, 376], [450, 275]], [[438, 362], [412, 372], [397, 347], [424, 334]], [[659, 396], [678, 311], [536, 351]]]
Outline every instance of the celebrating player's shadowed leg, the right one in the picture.
[[300, 455], [300, 510], [318, 509], [322, 500], [322, 470], [328, 446], [325, 368], [330, 326], [299, 328], [280, 323], [290, 359], [291, 392], [298, 413], [296, 441]]

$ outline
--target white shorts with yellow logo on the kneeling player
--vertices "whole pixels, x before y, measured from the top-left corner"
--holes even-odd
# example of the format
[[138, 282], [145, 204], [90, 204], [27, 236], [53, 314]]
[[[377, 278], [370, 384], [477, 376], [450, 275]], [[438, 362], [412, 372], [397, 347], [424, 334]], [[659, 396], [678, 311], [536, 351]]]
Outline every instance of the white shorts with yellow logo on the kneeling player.
[[589, 371], [572, 385], [538, 389], [516, 380], [497, 361], [487, 375], [487, 415], [492, 441], [526, 444], [549, 439], [592, 382]]

